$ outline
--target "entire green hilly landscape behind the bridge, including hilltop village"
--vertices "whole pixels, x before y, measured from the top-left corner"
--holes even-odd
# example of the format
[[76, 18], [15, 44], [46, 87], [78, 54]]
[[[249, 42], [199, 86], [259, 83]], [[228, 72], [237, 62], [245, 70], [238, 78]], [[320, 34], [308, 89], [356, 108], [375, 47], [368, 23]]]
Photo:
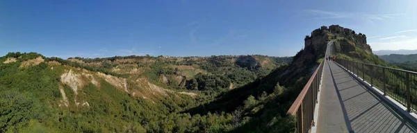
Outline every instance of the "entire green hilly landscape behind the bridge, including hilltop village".
[[0, 57], [0, 132], [293, 132], [286, 112], [336, 39], [379, 65], [366, 35], [313, 30], [294, 57]]

